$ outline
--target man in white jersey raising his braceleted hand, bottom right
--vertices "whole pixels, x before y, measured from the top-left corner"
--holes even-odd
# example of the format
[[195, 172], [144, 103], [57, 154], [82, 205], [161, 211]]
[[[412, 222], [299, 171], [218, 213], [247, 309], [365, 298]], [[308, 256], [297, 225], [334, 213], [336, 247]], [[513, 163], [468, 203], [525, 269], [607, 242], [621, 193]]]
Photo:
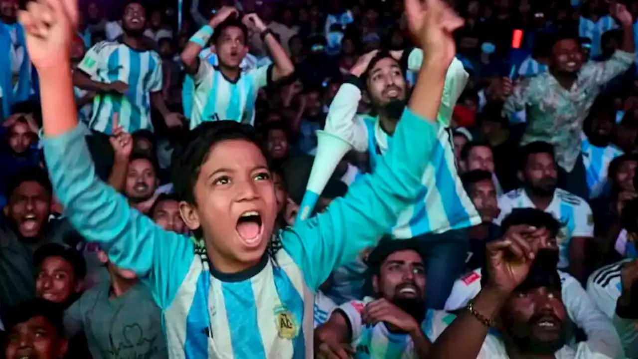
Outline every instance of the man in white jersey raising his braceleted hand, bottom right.
[[[557, 227], [554, 223], [554, 233]], [[435, 312], [426, 318], [426, 334], [433, 340], [428, 357], [618, 358], [618, 337], [614, 343], [588, 337], [567, 345], [567, 309], [551, 240], [547, 228], [514, 225], [489, 243], [479, 294], [456, 317]]]

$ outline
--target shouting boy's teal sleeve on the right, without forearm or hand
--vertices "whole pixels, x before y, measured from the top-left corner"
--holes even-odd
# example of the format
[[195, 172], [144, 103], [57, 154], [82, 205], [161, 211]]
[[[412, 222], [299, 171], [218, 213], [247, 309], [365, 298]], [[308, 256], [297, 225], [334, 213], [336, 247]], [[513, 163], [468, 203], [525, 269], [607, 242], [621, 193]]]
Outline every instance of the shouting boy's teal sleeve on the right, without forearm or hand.
[[375, 172], [353, 183], [324, 213], [283, 232], [283, 247], [309, 287], [316, 290], [332, 270], [375, 247], [400, 211], [415, 201], [424, 189], [421, 177], [438, 141], [437, 129], [438, 124], [406, 109]]

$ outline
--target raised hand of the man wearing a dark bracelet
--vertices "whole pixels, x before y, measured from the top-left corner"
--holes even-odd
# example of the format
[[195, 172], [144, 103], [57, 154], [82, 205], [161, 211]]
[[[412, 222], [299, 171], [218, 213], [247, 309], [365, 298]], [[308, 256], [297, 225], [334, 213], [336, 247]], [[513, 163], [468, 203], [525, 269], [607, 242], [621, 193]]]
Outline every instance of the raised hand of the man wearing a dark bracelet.
[[505, 296], [525, 280], [538, 248], [548, 247], [547, 230], [514, 225], [498, 241], [487, 244], [487, 287]]

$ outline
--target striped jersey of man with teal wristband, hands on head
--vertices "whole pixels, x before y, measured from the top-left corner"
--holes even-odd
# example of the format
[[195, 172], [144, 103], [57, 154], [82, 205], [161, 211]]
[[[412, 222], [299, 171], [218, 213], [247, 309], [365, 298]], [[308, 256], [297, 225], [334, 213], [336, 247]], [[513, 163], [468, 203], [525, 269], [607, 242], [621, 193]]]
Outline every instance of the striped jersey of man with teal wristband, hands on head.
[[191, 130], [205, 121], [230, 119], [255, 124], [255, 100], [260, 88], [271, 82], [272, 65], [241, 72], [235, 81], [226, 78], [218, 67], [200, 61], [193, 75], [195, 93], [190, 116]]

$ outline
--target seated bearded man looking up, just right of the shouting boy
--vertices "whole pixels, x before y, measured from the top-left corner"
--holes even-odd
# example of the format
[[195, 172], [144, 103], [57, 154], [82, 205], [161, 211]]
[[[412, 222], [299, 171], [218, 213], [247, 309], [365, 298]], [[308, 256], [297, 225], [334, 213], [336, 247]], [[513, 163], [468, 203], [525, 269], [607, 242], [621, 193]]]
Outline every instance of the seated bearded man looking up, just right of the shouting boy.
[[385, 238], [367, 257], [376, 298], [351, 301], [332, 312], [315, 337], [320, 358], [425, 358], [429, 340], [426, 273], [417, 240]]

